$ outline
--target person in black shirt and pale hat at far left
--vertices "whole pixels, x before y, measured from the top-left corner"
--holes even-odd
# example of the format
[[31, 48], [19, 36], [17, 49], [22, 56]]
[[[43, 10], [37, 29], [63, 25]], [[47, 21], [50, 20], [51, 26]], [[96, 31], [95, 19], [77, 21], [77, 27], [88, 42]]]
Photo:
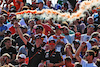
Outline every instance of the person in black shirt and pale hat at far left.
[[5, 37], [3, 39], [3, 42], [5, 46], [1, 49], [1, 55], [3, 55], [4, 53], [8, 53], [11, 56], [11, 62], [13, 62], [15, 60], [17, 52], [15, 47], [12, 46], [12, 40], [10, 37]]

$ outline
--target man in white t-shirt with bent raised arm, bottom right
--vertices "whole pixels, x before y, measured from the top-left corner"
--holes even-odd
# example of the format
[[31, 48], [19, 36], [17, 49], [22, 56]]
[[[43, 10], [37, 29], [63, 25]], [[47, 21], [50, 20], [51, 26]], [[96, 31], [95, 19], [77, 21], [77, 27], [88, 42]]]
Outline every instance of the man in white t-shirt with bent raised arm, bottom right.
[[83, 67], [97, 67], [95, 63], [93, 63], [93, 59], [95, 56], [95, 53], [93, 50], [88, 50], [85, 54], [85, 59], [83, 60], [82, 58], [79, 57], [79, 53], [82, 50], [82, 47], [86, 46], [86, 43], [83, 42], [80, 47], [78, 48], [75, 58], [82, 64]]

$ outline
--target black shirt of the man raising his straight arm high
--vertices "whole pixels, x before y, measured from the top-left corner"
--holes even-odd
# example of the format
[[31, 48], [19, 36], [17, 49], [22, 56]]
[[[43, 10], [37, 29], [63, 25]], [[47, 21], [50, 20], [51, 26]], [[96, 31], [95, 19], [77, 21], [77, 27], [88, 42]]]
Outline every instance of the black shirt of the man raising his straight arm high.
[[29, 64], [28, 67], [38, 67], [38, 64], [41, 60], [45, 58], [45, 50], [41, 49], [41, 47], [37, 48], [29, 42], [27, 42], [26, 47], [28, 48], [29, 55]]

